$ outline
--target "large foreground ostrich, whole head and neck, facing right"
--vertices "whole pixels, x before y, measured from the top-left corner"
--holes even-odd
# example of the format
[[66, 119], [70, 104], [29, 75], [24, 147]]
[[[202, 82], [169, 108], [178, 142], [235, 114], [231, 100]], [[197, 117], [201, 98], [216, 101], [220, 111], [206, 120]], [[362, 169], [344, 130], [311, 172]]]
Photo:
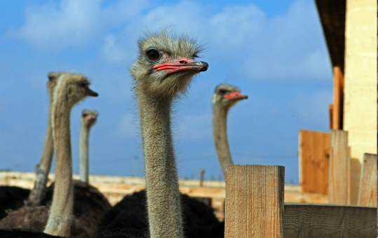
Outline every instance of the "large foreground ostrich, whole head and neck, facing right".
[[208, 69], [196, 61], [200, 49], [186, 36], [147, 34], [131, 68], [140, 109], [151, 237], [184, 237], [170, 109], [191, 78]]

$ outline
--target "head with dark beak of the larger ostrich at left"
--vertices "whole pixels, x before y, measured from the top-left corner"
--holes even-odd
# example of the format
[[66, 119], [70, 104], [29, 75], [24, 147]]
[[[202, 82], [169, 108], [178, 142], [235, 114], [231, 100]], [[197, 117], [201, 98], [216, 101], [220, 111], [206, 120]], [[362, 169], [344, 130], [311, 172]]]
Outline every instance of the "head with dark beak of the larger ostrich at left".
[[62, 73], [54, 90], [54, 104], [65, 99], [69, 109], [87, 96], [97, 97], [97, 92], [89, 88], [89, 80], [79, 73]]

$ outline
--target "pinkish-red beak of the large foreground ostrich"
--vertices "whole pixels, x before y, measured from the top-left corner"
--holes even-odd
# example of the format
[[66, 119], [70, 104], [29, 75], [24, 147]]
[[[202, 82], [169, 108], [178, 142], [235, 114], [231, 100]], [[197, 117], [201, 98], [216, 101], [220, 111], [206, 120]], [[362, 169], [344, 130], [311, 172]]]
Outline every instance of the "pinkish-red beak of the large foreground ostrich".
[[165, 70], [167, 74], [182, 71], [201, 72], [208, 70], [208, 63], [194, 59], [180, 58], [177, 61], [156, 64], [152, 69], [156, 71]]

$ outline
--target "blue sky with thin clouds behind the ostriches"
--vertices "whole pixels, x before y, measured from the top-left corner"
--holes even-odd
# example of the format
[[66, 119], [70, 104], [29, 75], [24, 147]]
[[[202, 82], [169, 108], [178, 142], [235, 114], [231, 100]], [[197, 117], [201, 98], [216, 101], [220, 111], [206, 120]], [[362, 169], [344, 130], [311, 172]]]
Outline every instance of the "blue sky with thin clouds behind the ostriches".
[[236, 164], [283, 165], [298, 181], [298, 132], [328, 131], [332, 71], [313, 1], [0, 1], [0, 169], [34, 171], [48, 113], [47, 74], [90, 78], [100, 96], [72, 110], [74, 172], [79, 118], [90, 132], [92, 174], [143, 176], [133, 80], [128, 69], [144, 31], [170, 25], [205, 45], [200, 73], [175, 105], [173, 131], [182, 178], [219, 179], [212, 141], [212, 93], [220, 83], [248, 94], [229, 112]]

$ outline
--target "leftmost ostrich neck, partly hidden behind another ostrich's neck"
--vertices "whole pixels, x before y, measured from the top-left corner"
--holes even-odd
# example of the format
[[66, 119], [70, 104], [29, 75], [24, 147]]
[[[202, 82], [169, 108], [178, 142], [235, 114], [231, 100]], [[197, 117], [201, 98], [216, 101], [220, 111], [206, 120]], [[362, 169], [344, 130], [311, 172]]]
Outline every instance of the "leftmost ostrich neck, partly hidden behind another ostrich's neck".
[[[50, 98], [51, 97], [52, 95], [50, 95]], [[36, 165], [36, 181], [34, 183], [34, 188], [29, 193], [29, 197], [27, 197], [27, 206], [39, 206], [43, 197], [46, 195], [46, 183], [54, 153], [53, 129], [51, 127], [51, 104], [52, 102], [50, 100], [45, 144], [43, 145], [41, 162], [39, 162], [39, 165]]]

